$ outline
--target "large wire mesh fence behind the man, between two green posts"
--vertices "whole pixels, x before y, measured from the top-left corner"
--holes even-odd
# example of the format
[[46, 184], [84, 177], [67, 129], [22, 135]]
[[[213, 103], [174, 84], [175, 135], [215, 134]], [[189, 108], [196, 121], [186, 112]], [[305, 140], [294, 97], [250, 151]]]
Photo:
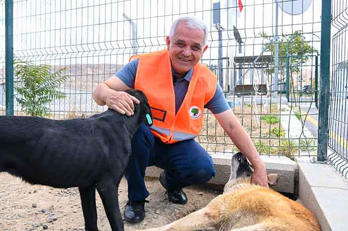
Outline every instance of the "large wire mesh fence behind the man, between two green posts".
[[[288, 2], [15, 0], [14, 57], [48, 64], [52, 73], [66, 68], [64, 75], [69, 78], [60, 87], [66, 97], [47, 104], [49, 117], [90, 116], [106, 110], [92, 100], [98, 83], [114, 78], [130, 56], [166, 49], [172, 22], [180, 15], [194, 15], [209, 30], [201, 62], [218, 76], [229, 105], [258, 151], [310, 157], [317, 153], [321, 3], [313, 1], [302, 14], [289, 14], [284, 12]], [[0, 12], [4, 41], [4, 0]], [[4, 72], [4, 43], [0, 43], [1, 114]], [[14, 97], [19, 97], [16, 91]], [[23, 114], [17, 101], [14, 111]], [[215, 117], [209, 112], [204, 116], [197, 141], [210, 152], [237, 151]]]

